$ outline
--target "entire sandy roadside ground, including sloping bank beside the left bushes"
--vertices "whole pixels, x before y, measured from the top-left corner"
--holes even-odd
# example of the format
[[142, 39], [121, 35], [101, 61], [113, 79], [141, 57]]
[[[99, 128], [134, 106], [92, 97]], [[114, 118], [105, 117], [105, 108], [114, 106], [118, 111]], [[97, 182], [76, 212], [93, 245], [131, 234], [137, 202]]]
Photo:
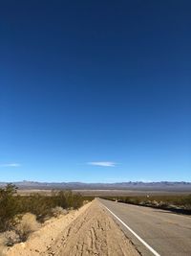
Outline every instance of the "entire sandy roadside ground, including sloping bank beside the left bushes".
[[25, 244], [6, 250], [7, 256], [138, 256], [116, 222], [97, 200], [78, 211], [50, 221]]

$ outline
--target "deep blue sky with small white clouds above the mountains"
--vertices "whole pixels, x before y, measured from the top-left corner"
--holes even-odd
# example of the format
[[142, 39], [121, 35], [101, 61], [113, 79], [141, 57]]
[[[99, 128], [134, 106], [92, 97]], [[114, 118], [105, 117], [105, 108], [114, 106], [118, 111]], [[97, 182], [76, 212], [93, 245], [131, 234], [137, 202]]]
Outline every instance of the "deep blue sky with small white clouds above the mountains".
[[1, 1], [0, 180], [191, 181], [190, 1]]

